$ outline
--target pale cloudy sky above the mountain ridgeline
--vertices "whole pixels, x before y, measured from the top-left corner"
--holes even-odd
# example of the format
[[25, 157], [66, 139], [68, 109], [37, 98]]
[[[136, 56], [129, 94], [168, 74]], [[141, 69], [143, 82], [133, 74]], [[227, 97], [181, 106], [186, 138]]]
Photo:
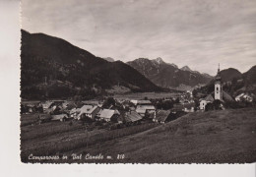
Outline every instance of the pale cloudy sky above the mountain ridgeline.
[[22, 0], [22, 28], [123, 62], [162, 58], [215, 75], [256, 65], [254, 0]]

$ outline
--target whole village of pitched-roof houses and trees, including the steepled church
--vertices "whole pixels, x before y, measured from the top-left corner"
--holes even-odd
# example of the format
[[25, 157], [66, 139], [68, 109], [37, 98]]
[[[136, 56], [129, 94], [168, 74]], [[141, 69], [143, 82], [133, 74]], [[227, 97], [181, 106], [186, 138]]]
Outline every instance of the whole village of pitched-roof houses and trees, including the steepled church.
[[[143, 122], [164, 124], [190, 112], [203, 112], [211, 109], [225, 109], [225, 101], [252, 102], [253, 97], [241, 93], [234, 99], [223, 90], [220, 65], [215, 77], [214, 92], [199, 99], [198, 104], [191, 90], [178, 93], [176, 97], [162, 99], [117, 99], [105, 97], [102, 100], [47, 100], [22, 103], [21, 113], [40, 113], [37, 123], [49, 121], [81, 120], [88, 125], [107, 125], [105, 128], [116, 129]], [[163, 104], [163, 105], [162, 105]], [[165, 104], [165, 105], [164, 105]]]

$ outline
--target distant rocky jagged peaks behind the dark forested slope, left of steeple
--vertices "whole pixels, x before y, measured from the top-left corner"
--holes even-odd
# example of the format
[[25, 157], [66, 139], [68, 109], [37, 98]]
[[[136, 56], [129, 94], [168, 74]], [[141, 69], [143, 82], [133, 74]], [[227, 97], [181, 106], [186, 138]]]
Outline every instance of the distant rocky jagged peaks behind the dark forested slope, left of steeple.
[[175, 65], [165, 63], [160, 58], [155, 60], [139, 58], [127, 64], [162, 88], [177, 88], [181, 85], [195, 87], [207, 84], [212, 79], [199, 72], [191, 71], [187, 66], [178, 69]]

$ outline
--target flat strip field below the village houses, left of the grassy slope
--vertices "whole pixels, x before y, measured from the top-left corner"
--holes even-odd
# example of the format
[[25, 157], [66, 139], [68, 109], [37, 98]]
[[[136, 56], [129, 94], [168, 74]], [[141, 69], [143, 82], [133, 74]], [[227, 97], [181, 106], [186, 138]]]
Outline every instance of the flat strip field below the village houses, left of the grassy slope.
[[38, 124], [36, 117], [37, 114], [23, 114], [21, 118], [21, 158], [24, 162], [28, 162], [30, 154], [54, 155], [78, 148], [98, 147], [102, 142], [137, 134], [158, 126], [154, 123], [144, 123], [115, 130], [95, 126], [89, 131], [81, 121], [74, 120], [72, 125], [71, 121]]

